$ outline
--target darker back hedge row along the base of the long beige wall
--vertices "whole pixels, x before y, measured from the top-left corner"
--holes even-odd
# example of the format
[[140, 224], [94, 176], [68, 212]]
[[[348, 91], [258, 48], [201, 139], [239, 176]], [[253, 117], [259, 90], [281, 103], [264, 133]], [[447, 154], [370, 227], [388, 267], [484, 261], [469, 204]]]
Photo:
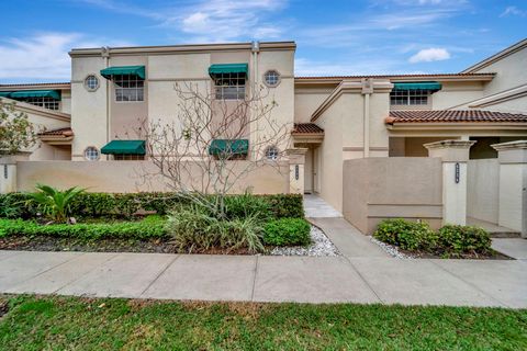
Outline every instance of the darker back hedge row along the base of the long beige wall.
[[[232, 195], [238, 196], [238, 195]], [[243, 195], [240, 195], [243, 196]], [[298, 194], [256, 195], [269, 202], [274, 218], [302, 218], [302, 196]], [[189, 204], [177, 193], [82, 193], [71, 203], [74, 216], [86, 218], [130, 218], [139, 211], [167, 214], [177, 205]], [[37, 207], [29, 193], [0, 194], [0, 218], [35, 218]]]

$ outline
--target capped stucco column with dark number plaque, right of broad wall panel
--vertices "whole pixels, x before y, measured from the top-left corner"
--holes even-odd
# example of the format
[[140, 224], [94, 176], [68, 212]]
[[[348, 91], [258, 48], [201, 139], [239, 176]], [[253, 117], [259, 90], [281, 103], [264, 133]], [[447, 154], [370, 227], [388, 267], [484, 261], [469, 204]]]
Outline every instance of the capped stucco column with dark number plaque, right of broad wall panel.
[[442, 160], [442, 224], [467, 224], [467, 162], [475, 141], [442, 140], [425, 144], [428, 157]]

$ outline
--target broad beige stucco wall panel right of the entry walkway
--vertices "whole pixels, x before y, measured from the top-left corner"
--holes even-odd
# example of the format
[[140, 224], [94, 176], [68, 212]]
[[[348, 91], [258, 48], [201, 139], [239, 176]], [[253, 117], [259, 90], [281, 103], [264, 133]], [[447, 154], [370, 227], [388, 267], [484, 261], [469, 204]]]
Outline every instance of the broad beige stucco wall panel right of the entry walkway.
[[439, 158], [363, 158], [344, 161], [343, 214], [365, 234], [384, 218], [442, 219]]

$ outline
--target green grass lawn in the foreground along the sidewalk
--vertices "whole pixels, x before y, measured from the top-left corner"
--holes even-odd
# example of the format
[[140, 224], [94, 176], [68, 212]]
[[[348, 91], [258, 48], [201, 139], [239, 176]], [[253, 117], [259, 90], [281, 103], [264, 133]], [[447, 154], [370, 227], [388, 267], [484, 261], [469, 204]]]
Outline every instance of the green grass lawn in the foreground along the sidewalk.
[[525, 309], [2, 301], [1, 350], [527, 350]]

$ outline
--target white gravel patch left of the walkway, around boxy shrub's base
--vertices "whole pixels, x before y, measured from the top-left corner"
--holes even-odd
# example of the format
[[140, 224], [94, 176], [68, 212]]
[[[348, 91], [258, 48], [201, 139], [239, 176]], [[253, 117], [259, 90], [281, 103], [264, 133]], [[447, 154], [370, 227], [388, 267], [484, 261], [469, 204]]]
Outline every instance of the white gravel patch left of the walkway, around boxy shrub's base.
[[294, 246], [287, 248], [274, 248], [270, 256], [339, 256], [337, 247], [318, 227], [311, 226], [310, 231], [312, 244], [307, 247]]

